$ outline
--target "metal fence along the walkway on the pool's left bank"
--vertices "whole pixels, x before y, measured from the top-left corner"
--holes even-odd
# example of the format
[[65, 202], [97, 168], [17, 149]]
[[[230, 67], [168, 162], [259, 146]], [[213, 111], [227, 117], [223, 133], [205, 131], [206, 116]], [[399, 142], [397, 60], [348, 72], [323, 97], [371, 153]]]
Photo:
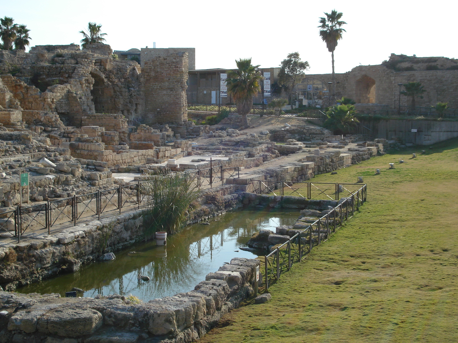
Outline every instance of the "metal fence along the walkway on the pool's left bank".
[[[191, 182], [198, 189], [208, 186], [212, 188], [215, 184], [223, 185], [226, 179], [240, 177], [240, 167], [224, 168], [222, 165], [210, 164], [210, 168], [176, 173], [171, 177], [184, 177], [185, 182]], [[140, 208], [147, 196], [145, 184], [152, 182], [154, 180], [137, 181], [126, 186], [74, 195], [71, 198], [48, 200], [32, 206], [17, 206], [16, 209], [0, 214], [0, 229], [10, 233], [11, 237], [17, 237], [20, 242], [21, 235], [31, 230], [47, 230], [50, 234], [51, 228], [57, 225], [76, 225], [77, 222], [93, 217], [100, 219], [108, 211], [121, 214], [127, 207]]]

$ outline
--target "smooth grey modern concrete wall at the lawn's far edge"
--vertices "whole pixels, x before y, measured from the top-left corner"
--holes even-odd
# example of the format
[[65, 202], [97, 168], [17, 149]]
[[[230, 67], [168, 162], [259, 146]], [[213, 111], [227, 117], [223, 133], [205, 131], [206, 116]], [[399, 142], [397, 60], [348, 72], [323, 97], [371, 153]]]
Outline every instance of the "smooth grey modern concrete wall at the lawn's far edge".
[[[381, 120], [379, 122], [361, 122], [372, 129], [373, 137], [401, 139], [403, 143], [431, 145], [458, 137], [458, 122], [432, 120]], [[416, 129], [417, 132], [412, 132]]]

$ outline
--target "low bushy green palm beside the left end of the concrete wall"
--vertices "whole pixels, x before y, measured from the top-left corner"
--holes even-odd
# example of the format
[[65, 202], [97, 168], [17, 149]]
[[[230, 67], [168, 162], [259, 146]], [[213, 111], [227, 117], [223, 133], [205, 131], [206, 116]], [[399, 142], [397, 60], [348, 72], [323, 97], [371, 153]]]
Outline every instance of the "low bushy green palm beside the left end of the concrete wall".
[[334, 105], [327, 112], [327, 119], [323, 126], [334, 131], [334, 134], [349, 134], [357, 123], [355, 118], [356, 109], [353, 105]]

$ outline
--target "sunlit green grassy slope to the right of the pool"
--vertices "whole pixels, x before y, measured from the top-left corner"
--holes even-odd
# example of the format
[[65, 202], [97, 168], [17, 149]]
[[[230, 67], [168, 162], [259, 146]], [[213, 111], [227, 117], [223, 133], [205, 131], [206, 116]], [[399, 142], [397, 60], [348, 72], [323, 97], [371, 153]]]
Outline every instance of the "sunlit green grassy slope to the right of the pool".
[[317, 176], [364, 175], [368, 201], [271, 301], [233, 311], [201, 342], [458, 342], [458, 140], [413, 151]]

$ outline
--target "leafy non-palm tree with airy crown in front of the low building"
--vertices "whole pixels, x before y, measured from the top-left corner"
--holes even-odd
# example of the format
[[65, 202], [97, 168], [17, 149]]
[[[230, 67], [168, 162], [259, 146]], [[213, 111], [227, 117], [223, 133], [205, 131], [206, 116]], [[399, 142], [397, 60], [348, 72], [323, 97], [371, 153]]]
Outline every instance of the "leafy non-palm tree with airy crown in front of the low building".
[[291, 102], [291, 94], [294, 86], [305, 75], [304, 71], [310, 67], [307, 61], [302, 61], [298, 52], [288, 54], [286, 59], [280, 64], [278, 72], [278, 83], [281, 86], [286, 86], [289, 89], [288, 102]]

